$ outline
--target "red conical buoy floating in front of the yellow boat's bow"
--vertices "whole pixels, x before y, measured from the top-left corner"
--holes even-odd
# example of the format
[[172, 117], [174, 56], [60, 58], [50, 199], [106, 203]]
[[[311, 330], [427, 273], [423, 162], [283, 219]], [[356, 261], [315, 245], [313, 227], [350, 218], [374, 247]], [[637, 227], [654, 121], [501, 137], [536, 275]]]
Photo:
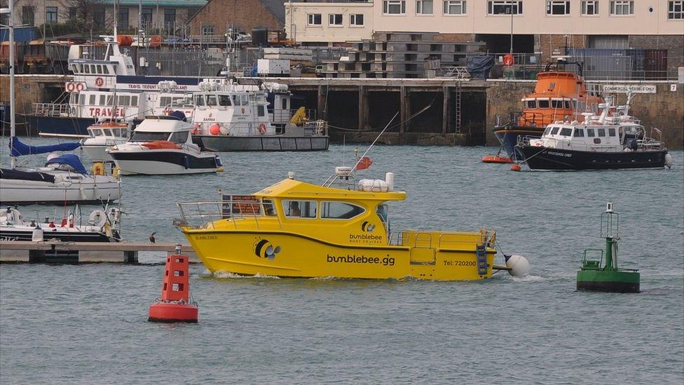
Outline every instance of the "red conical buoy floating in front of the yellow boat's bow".
[[190, 301], [189, 260], [180, 252], [181, 245], [176, 245], [176, 253], [166, 257], [161, 299], [150, 305], [151, 322], [197, 322], [197, 304]]

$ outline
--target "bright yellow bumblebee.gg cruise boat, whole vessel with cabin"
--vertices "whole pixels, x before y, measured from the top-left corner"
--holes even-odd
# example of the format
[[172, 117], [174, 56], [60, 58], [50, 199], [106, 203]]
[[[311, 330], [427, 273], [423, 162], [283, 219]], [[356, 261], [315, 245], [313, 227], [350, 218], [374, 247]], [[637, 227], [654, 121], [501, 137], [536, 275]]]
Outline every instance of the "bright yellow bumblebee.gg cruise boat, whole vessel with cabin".
[[[178, 203], [175, 225], [212, 273], [479, 280], [494, 266], [495, 232], [392, 232], [394, 175], [355, 182], [336, 168], [322, 186], [294, 174], [250, 196]], [[499, 267], [500, 269], [507, 269]]]

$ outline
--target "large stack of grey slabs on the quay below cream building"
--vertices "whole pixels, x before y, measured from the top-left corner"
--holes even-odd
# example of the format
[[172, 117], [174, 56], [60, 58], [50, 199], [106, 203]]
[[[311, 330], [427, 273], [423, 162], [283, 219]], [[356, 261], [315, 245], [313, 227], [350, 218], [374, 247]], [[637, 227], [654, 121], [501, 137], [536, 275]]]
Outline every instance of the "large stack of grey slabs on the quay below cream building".
[[373, 39], [351, 41], [339, 60], [324, 61], [320, 74], [330, 78], [423, 78], [439, 60], [442, 67], [463, 67], [467, 55], [486, 49], [484, 42], [435, 41], [436, 32], [376, 32]]

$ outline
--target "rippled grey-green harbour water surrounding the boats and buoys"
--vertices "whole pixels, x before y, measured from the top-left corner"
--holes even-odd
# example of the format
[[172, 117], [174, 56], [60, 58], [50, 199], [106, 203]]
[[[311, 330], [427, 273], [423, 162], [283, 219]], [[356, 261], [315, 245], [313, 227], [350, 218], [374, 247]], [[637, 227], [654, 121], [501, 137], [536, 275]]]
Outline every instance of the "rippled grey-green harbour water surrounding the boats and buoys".
[[[377, 147], [361, 176], [397, 174], [409, 199], [390, 206], [395, 231], [496, 229], [506, 252], [528, 257], [531, 277], [238, 278], [195, 264], [200, 323], [160, 325], [146, 317], [161, 265], [3, 264], [0, 382], [681, 384], [683, 152], [673, 151], [672, 170], [513, 173], [479, 162], [491, 151]], [[251, 193], [287, 171], [322, 182], [340, 165], [341, 146], [221, 158], [226, 172], [216, 175], [125, 177], [124, 236], [157, 231], [159, 242], [184, 241], [171, 226], [176, 201], [217, 197], [219, 188]], [[641, 294], [575, 292], [582, 250], [603, 247], [598, 219], [607, 201], [621, 214], [621, 262], [641, 269]]]

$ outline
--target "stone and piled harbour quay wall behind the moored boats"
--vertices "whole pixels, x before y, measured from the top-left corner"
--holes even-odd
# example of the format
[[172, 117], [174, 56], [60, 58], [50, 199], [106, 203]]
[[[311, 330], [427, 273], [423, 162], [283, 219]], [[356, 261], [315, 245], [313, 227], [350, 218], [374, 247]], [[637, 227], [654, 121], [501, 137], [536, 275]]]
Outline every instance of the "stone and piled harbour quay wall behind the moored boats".
[[[498, 145], [493, 135], [497, 121], [506, 121], [509, 112], [519, 111], [521, 97], [531, 93], [535, 85], [534, 81], [526, 80], [474, 79], [265, 80], [287, 84], [299, 97], [300, 104], [315, 109], [317, 118], [329, 121], [331, 140], [334, 142], [371, 142], [389, 123], [380, 142], [446, 146]], [[23, 116], [32, 112], [33, 103], [63, 98], [64, 81], [69, 81], [69, 77], [16, 77], [19, 133], [36, 135], [37, 128], [25, 126]], [[663, 140], [668, 147], [684, 147], [684, 83], [598, 83], [645, 86], [655, 91], [636, 94], [631, 114], [641, 119], [645, 128], [662, 130]], [[624, 93], [615, 95], [618, 103], [624, 103]], [[8, 76], [1, 76], [0, 101], [8, 100]], [[395, 114], [397, 116], [392, 120]]]

